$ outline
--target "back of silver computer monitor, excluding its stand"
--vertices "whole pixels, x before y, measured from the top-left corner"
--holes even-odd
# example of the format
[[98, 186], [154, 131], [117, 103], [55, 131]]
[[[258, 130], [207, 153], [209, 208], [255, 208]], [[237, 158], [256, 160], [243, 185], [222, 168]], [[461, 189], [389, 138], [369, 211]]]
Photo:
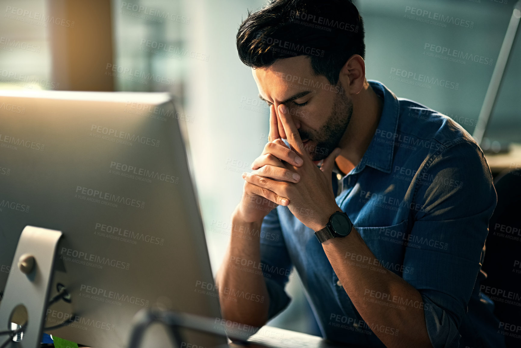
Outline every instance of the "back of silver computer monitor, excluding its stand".
[[61, 231], [50, 296], [70, 303], [45, 326], [74, 317], [48, 333], [125, 347], [142, 308], [220, 318], [182, 122], [167, 93], [0, 91], [0, 290], [24, 227]]

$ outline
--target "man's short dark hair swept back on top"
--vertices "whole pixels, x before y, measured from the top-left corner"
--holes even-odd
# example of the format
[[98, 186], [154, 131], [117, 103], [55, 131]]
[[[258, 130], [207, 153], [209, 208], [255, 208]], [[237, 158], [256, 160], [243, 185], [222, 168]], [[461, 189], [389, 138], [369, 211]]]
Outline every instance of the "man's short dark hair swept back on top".
[[239, 58], [266, 68], [277, 59], [308, 56], [316, 75], [336, 85], [353, 54], [364, 58], [364, 23], [350, 0], [271, 0], [242, 22]]

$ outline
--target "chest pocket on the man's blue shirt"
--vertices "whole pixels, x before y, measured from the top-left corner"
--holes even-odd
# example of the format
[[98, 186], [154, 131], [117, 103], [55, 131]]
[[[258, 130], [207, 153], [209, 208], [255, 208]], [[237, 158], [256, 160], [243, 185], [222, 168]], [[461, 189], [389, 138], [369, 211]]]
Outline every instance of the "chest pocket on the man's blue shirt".
[[[399, 224], [387, 227], [355, 226], [355, 229], [362, 236], [365, 244], [367, 244], [381, 265], [401, 277], [403, 272], [408, 272], [403, 266], [408, 235], [407, 226], [408, 222], [405, 220]], [[353, 255], [346, 255], [346, 258], [356, 260], [356, 257], [353, 258]], [[362, 262], [369, 265], [377, 264], [375, 260], [362, 260]]]

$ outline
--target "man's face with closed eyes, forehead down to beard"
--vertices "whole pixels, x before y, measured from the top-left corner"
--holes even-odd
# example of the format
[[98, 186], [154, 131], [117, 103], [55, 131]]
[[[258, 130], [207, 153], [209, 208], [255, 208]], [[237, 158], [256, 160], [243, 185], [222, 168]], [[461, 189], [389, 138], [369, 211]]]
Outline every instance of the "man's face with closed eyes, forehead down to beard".
[[305, 152], [313, 161], [325, 159], [338, 146], [353, 113], [341, 84], [331, 86], [325, 76], [315, 75], [305, 56], [279, 59], [252, 73], [262, 99], [275, 110], [280, 104], [288, 107]]

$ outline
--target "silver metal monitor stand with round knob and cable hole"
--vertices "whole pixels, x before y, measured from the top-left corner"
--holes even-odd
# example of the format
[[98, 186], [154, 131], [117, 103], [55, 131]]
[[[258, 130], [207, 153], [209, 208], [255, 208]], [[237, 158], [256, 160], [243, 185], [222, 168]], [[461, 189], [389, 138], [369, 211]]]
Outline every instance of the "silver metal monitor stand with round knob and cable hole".
[[[27, 326], [22, 341], [11, 341], [6, 348], [40, 347], [61, 235], [60, 231], [34, 226], [26, 226], [22, 231], [11, 266], [13, 273], [7, 279], [0, 306], [0, 331], [11, 330], [11, 319], [19, 305], [27, 309]], [[12, 340], [9, 335], [0, 335], [0, 345], [6, 339]]]

